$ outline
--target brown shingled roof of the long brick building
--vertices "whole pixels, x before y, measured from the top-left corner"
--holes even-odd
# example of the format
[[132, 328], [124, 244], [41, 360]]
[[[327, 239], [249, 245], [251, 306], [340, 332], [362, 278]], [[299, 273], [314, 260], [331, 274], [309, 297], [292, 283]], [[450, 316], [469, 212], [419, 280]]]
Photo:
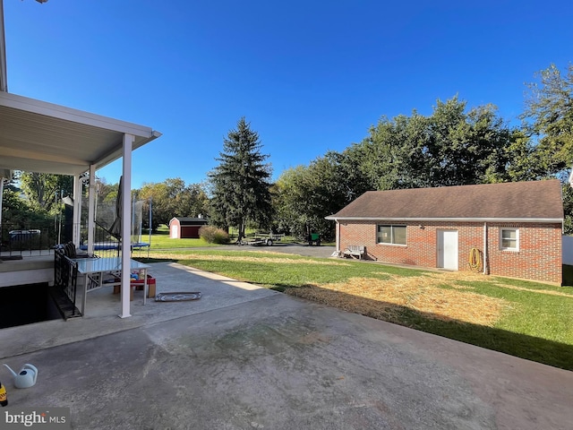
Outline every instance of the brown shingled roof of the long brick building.
[[327, 219], [563, 219], [557, 179], [369, 191]]

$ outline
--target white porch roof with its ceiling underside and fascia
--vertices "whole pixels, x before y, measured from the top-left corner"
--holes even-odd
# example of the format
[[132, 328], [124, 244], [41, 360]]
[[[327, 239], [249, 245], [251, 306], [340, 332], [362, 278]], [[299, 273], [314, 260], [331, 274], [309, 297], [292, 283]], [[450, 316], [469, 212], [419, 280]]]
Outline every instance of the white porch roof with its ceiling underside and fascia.
[[150, 127], [127, 123], [0, 91], [0, 169], [81, 175], [123, 154], [124, 133], [132, 149], [158, 138]]

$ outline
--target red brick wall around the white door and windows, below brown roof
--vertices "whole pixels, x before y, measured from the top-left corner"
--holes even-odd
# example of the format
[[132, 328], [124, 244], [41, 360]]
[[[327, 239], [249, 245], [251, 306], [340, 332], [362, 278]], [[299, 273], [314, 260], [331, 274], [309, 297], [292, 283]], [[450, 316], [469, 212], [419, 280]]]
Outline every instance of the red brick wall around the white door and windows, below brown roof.
[[[406, 245], [376, 243], [378, 224], [406, 226]], [[421, 228], [423, 227], [423, 228]], [[500, 250], [500, 228], [519, 229], [519, 250]], [[438, 230], [458, 230], [458, 270], [470, 270], [469, 254], [477, 248], [483, 260], [483, 222], [341, 222], [339, 245], [364, 245], [368, 259], [380, 262], [438, 267]], [[487, 223], [486, 258], [492, 275], [560, 284], [561, 224]]]

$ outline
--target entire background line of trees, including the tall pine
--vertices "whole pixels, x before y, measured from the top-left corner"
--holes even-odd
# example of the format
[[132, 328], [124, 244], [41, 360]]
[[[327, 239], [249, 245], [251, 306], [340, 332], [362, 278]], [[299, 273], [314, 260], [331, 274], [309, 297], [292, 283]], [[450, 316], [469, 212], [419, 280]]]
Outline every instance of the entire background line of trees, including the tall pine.
[[[133, 195], [152, 202], [154, 230], [173, 217], [201, 214], [243, 236], [255, 228], [301, 237], [314, 232], [328, 239], [334, 226], [324, 218], [366, 191], [559, 177], [565, 233], [572, 234], [573, 190], [567, 176], [573, 163], [573, 66], [561, 74], [552, 64], [535, 77], [527, 85], [520, 125], [509, 125], [492, 104], [468, 107], [458, 96], [437, 100], [427, 116], [416, 110], [382, 116], [361, 142], [289, 168], [274, 183], [269, 155], [243, 117], [227, 133], [218, 166], [204, 183], [170, 178], [145, 184]], [[30, 208], [50, 213], [57, 193], [71, 186], [70, 178], [22, 173], [27, 198], [18, 200], [8, 187], [4, 211], [13, 217]], [[97, 189], [100, 199], [115, 201], [116, 184], [99, 181]]]

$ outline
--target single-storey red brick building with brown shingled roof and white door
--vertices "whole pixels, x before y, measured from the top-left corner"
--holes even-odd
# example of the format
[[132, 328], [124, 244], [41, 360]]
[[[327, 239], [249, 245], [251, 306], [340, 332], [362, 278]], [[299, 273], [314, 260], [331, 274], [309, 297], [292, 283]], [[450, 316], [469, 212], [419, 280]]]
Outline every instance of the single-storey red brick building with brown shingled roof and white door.
[[371, 191], [327, 219], [369, 260], [562, 281], [557, 179]]

